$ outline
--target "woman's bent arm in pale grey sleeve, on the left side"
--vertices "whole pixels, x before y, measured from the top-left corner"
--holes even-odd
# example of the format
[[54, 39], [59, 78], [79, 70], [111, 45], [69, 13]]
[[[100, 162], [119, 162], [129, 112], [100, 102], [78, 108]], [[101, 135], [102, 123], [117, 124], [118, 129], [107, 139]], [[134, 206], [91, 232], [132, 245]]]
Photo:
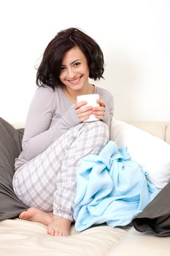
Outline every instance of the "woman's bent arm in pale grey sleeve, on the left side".
[[66, 130], [80, 123], [72, 105], [55, 124], [52, 124], [55, 111], [59, 111], [56, 97], [51, 89], [39, 88], [28, 110], [26, 128], [23, 135], [23, 152], [26, 161], [45, 151], [53, 141]]

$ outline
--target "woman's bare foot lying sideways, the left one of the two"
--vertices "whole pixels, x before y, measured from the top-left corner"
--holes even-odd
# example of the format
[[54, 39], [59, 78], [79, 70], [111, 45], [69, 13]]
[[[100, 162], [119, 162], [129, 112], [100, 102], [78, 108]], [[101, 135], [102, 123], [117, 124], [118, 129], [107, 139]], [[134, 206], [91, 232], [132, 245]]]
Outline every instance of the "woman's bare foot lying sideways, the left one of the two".
[[31, 222], [39, 222], [45, 225], [49, 225], [49, 223], [53, 219], [53, 214], [51, 212], [41, 211], [38, 208], [28, 208], [27, 211], [21, 212], [19, 215], [20, 219], [26, 219]]

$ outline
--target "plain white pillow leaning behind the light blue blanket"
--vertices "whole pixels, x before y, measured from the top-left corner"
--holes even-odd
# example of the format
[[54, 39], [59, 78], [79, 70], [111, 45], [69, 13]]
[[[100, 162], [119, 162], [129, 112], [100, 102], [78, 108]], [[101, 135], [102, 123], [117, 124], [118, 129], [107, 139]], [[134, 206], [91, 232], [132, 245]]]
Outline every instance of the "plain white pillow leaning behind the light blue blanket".
[[170, 145], [161, 138], [117, 119], [112, 121], [110, 139], [126, 146], [132, 160], [149, 173], [148, 180], [162, 189], [170, 180]]

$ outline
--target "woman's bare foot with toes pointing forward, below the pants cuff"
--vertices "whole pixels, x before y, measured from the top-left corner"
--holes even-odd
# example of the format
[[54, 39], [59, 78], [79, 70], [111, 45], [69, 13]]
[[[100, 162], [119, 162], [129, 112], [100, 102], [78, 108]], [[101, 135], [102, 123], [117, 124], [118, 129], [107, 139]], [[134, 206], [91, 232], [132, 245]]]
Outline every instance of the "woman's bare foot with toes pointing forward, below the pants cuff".
[[47, 225], [47, 233], [52, 236], [69, 236], [72, 221], [53, 215], [53, 220]]

